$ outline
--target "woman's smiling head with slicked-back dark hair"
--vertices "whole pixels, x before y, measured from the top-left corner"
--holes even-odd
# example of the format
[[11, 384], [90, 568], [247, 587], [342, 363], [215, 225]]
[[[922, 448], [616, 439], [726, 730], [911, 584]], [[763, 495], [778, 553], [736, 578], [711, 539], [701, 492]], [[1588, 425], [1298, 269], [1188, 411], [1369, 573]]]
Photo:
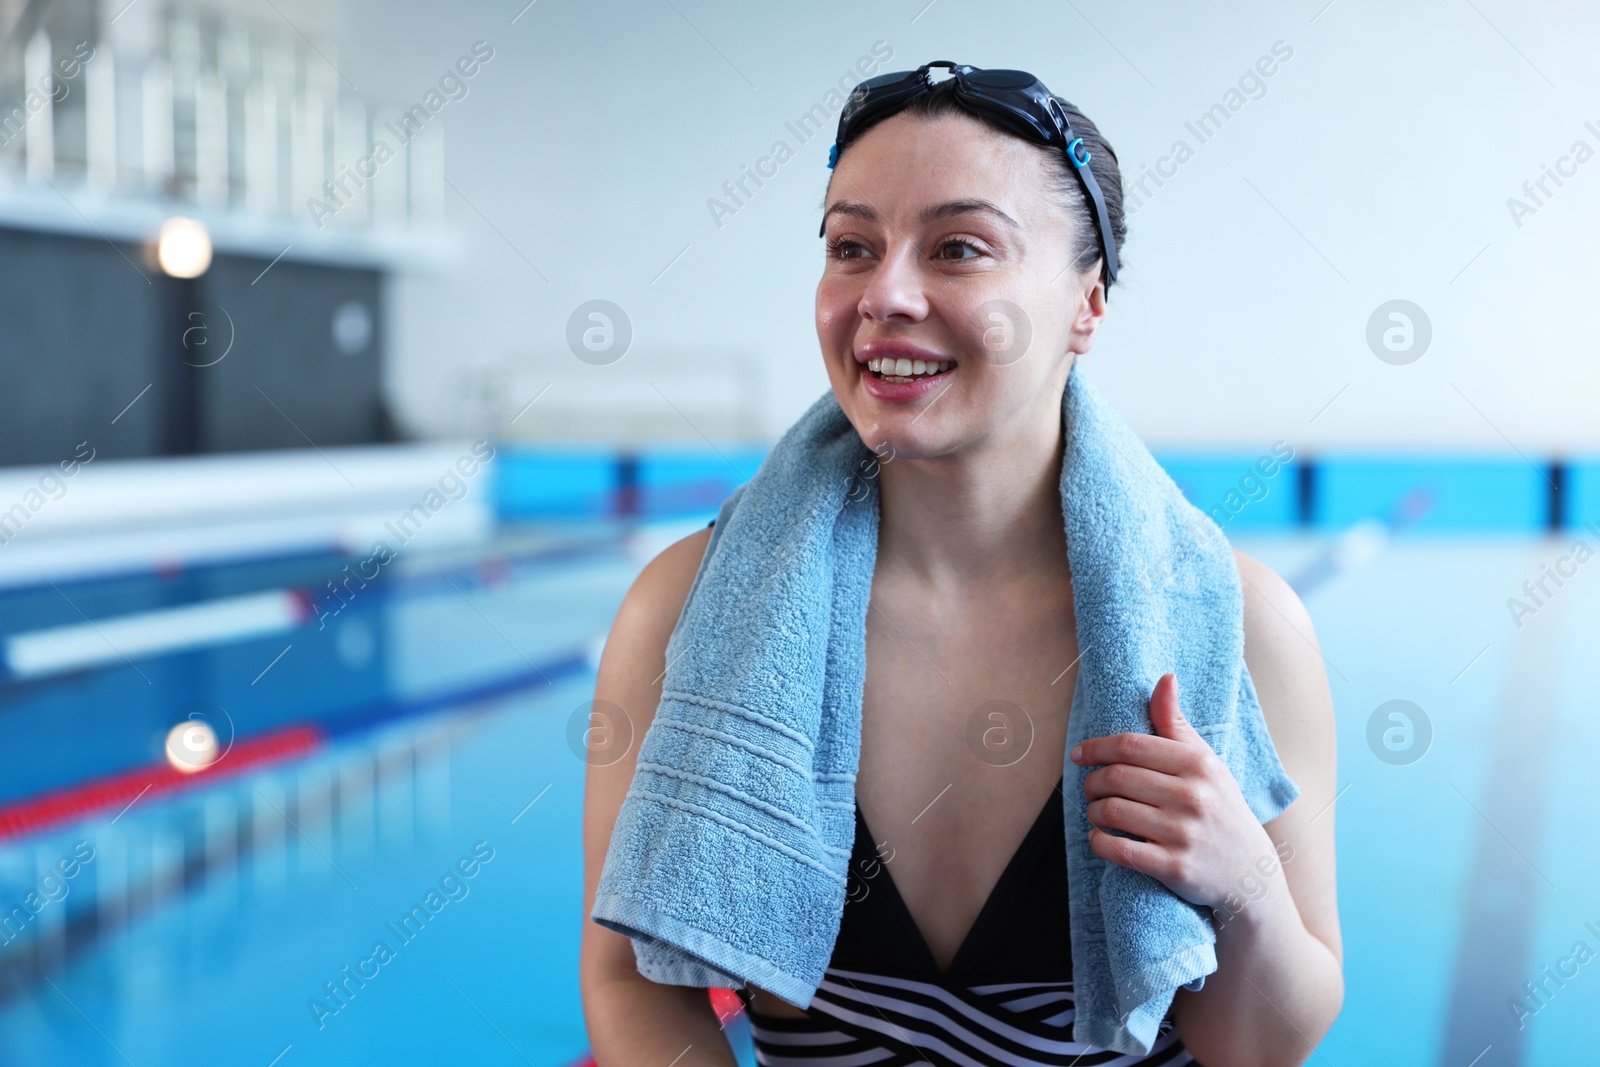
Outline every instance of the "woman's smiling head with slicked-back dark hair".
[[[1070, 360], [1026, 360], [1014, 341], [1026, 336], [1027, 347], [1088, 352], [1110, 282], [1096, 266], [1106, 262], [1101, 248], [1114, 261], [1125, 234], [1115, 154], [1082, 112], [1048, 98], [1074, 134], [1075, 155], [1067, 155], [974, 117], [957, 88], [955, 78], [944, 82], [890, 115], [862, 106], [859, 122], [842, 125], [822, 216], [827, 261], [816, 318], [829, 378], [851, 422], [878, 424], [896, 453], [902, 445], [915, 450], [917, 435], [931, 440], [947, 432], [922, 416], [957, 379], [970, 381], [952, 394], [957, 403], [938, 408], [946, 427], [963, 411], [987, 410], [997, 392], [1032, 432], [1058, 421]], [[864, 101], [872, 93], [867, 88]], [[966, 152], [952, 152], [955, 146]], [[1075, 165], [1080, 158], [1085, 163]], [[1085, 170], [1098, 194], [1093, 206]], [[923, 186], [918, 200], [891, 192], [914, 181]], [[978, 189], [992, 195], [973, 195]], [[1005, 309], [998, 334], [997, 306]], [[941, 322], [941, 333], [958, 336], [933, 347], [934, 331], [904, 328], [926, 317]], [[1006, 344], [997, 346], [997, 338]], [[883, 357], [894, 360], [893, 376], [882, 362], [872, 365]], [[917, 374], [918, 360], [923, 378], [894, 381]], [[971, 360], [1006, 370], [978, 374], [979, 368], [963, 366]], [[947, 368], [926, 376], [928, 363]]]

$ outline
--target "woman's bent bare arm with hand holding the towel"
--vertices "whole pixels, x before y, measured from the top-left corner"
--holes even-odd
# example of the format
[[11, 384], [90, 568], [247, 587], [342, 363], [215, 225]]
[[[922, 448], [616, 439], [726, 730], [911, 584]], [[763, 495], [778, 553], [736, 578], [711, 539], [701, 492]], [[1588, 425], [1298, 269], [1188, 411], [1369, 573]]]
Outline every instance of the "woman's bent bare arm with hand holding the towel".
[[[1333, 877], [1333, 699], [1294, 590], [1250, 557], [1245, 662], [1299, 798], [1256, 822], [1234, 773], [1184, 718], [1178, 675], [1150, 694], [1150, 733], [1090, 737], [1069, 758], [1083, 779], [1090, 848], [1211, 909], [1218, 969], [1178, 990], [1173, 1022], [1216, 1067], [1299, 1067], [1344, 1001]], [[1122, 830], [1134, 837], [1118, 837]]]

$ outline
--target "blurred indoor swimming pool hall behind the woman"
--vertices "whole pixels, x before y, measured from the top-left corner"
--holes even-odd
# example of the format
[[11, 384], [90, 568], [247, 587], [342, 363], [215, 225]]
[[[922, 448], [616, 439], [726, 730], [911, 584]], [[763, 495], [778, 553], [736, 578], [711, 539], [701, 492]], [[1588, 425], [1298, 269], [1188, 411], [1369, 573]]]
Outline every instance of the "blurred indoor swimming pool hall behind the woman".
[[0, 1062], [586, 1061], [606, 627], [827, 389], [838, 107], [930, 59], [1034, 70], [1115, 146], [1085, 368], [1317, 624], [1314, 1059], [1586, 1062], [1590, 5], [0, 0]]

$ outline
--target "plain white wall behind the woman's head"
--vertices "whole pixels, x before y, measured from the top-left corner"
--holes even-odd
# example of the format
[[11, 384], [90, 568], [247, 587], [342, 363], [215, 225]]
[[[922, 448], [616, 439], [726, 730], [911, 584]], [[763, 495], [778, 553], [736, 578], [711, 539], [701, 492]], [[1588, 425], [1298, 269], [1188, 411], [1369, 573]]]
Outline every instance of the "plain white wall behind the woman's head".
[[[346, 0], [339, 64], [363, 91], [416, 99], [472, 42], [494, 48], [443, 112], [448, 181], [475, 205], [446, 189], [469, 253], [392, 288], [402, 419], [482, 432], [485, 382], [512, 373], [498, 402], [512, 413], [557, 379], [603, 395], [616, 368], [579, 365], [565, 328], [605, 298], [632, 320], [635, 374], [754, 363], [774, 438], [827, 389], [811, 301], [832, 138], [802, 146], [720, 229], [706, 202], [774, 139], [794, 146], [784, 122], [882, 40], [890, 69], [1040, 74], [1101, 125], [1125, 179], [1178, 138], [1195, 149], [1130, 221], [1125, 285], [1088, 363], [1152, 445], [1600, 446], [1600, 160], [1520, 227], [1507, 210], [1574, 141], [1600, 150], [1600, 106], [1586, 106], [1600, 13], [1323, 5], [539, 0], [512, 24], [522, 0]], [[1198, 144], [1184, 123], [1278, 40], [1293, 58], [1266, 94]], [[1434, 330], [1405, 366], [1366, 344], [1368, 317], [1395, 298]], [[557, 394], [514, 430], [539, 435]]]

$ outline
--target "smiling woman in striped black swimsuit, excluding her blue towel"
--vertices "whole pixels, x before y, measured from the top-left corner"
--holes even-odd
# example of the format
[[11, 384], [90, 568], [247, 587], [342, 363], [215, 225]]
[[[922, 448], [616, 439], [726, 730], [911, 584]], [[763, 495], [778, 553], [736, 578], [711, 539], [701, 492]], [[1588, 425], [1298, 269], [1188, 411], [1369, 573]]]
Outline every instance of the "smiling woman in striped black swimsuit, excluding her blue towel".
[[[987, 72], [1005, 74], [997, 90], [1038, 88], [1035, 110], [1054, 123], [1054, 141], [974, 107], [958, 78], [933, 83], [926, 70], [910, 90], [909, 74], [875, 78], [846, 107], [816, 293], [834, 395], [885, 458], [856, 854], [830, 973], [893, 974], [907, 992], [890, 1011], [867, 998], [802, 1011], [752, 987], [765, 1062], [1069, 1062], [1027, 1053], [1029, 1033], [1066, 1035], [1070, 1021], [1059, 1009], [1070, 1006], [1072, 971], [1056, 790], [1077, 630], [1061, 413], [1074, 360], [1106, 317], [1122, 182], [1094, 125], [1032, 75]], [[971, 82], [984, 72], [955, 74]], [[877, 114], [853, 122], [869, 101]], [[635, 737], [661, 699], [666, 643], [709, 536], [685, 537], [645, 568], [606, 641], [595, 699], [627, 709]], [[1234, 555], [1246, 667], [1301, 797], [1256, 822], [1230, 771], [1181, 717], [1174, 675], [1150, 694], [1155, 736], [1093, 739], [1070, 753], [1098, 768], [1080, 798], [1098, 827], [1094, 853], [1218, 920], [1216, 973], [1176, 993], [1171, 1025], [1147, 1057], [1082, 1048], [1070, 1062], [1301, 1064], [1342, 1003], [1331, 696], [1298, 597]], [[998, 774], [968, 731], [973, 709], [997, 699], [1026, 709], [1032, 725], [1026, 753], [1000, 760]], [[586, 910], [634, 769], [632, 752], [589, 768]], [[997, 985], [1046, 992], [1002, 1008]], [[941, 1019], [938, 1001], [918, 1001], [930, 987], [963, 990], [968, 1017]], [[594, 923], [584, 925], [582, 993], [602, 1067], [733, 1062], [704, 992], [642, 977], [629, 939]], [[1011, 1025], [1006, 1011], [1029, 1017]], [[963, 1046], [962, 1061], [947, 1046], [928, 1051], [909, 1032], [920, 1027], [1000, 1037], [978, 1041], [986, 1053]]]

